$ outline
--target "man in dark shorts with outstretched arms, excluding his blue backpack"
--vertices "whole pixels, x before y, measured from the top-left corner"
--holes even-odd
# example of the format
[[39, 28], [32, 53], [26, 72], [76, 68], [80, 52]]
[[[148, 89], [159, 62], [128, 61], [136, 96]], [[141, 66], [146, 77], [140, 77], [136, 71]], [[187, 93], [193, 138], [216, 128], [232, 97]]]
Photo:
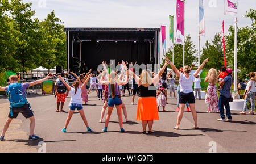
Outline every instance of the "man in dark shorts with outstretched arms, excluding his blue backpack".
[[[22, 89], [22, 94], [24, 95], [24, 98], [26, 99], [26, 89], [30, 86], [34, 86], [37, 85], [39, 83], [42, 83], [43, 81], [46, 81], [49, 78], [49, 75], [47, 75], [45, 78], [31, 82], [31, 83], [21, 83], [21, 89]], [[9, 77], [11, 84], [13, 83], [18, 83], [19, 78], [17, 75], [11, 75]], [[6, 87], [0, 87], [0, 90], [5, 90], [7, 91], [9, 88], [9, 86]], [[24, 104], [22, 107], [19, 108], [15, 108], [12, 107], [12, 110], [10, 111], [9, 115], [8, 115], [8, 119], [5, 122], [5, 125], [3, 127], [3, 132], [1, 135], [1, 140], [4, 140], [5, 137], [5, 132], [7, 131], [7, 129], [9, 128], [9, 125], [11, 123], [11, 121], [13, 119], [16, 119], [16, 117], [19, 115], [19, 113], [22, 113], [22, 115], [26, 118], [26, 119], [30, 119], [30, 136], [28, 138], [28, 140], [36, 140], [39, 138], [39, 136], [36, 136], [34, 134], [34, 129], [35, 129], [35, 117], [33, 112], [31, 111], [30, 105]]]

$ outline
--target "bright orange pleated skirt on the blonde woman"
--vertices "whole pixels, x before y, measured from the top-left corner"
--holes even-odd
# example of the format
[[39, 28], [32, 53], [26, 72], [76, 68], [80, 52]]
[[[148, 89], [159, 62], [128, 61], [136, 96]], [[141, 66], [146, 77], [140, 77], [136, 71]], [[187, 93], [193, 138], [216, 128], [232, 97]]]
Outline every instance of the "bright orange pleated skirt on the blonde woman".
[[155, 97], [139, 97], [136, 120], [159, 120]]

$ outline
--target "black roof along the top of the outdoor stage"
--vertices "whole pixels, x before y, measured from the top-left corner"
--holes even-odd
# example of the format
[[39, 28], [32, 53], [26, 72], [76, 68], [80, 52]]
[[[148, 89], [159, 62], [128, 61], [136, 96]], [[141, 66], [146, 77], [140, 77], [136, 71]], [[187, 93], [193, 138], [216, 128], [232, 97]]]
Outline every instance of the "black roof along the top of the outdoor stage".
[[77, 41], [154, 41], [160, 28], [64, 28]]

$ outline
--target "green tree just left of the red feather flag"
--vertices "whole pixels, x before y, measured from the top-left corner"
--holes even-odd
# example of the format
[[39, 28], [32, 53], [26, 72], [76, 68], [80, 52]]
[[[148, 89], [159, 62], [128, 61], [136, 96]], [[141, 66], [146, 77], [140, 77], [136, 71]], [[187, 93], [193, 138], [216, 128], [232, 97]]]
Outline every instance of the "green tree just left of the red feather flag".
[[209, 57], [210, 60], [207, 62], [207, 65], [204, 66], [204, 69], [215, 68], [220, 70], [221, 66], [224, 66], [224, 51], [222, 47], [222, 37], [219, 33], [215, 34], [212, 43], [211, 45], [208, 40], [205, 42], [200, 61], [204, 61]]

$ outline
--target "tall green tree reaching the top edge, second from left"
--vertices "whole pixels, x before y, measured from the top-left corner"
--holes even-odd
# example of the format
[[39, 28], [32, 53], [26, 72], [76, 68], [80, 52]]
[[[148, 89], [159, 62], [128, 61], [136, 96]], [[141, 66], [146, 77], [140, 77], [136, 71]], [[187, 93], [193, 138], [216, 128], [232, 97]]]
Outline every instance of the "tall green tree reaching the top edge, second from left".
[[23, 73], [33, 69], [38, 64], [40, 54], [37, 53], [38, 41], [38, 19], [32, 19], [35, 11], [31, 10], [32, 3], [23, 3], [21, 0], [10, 1], [10, 13], [14, 21], [14, 28], [20, 33], [18, 36], [18, 49], [14, 55]]

